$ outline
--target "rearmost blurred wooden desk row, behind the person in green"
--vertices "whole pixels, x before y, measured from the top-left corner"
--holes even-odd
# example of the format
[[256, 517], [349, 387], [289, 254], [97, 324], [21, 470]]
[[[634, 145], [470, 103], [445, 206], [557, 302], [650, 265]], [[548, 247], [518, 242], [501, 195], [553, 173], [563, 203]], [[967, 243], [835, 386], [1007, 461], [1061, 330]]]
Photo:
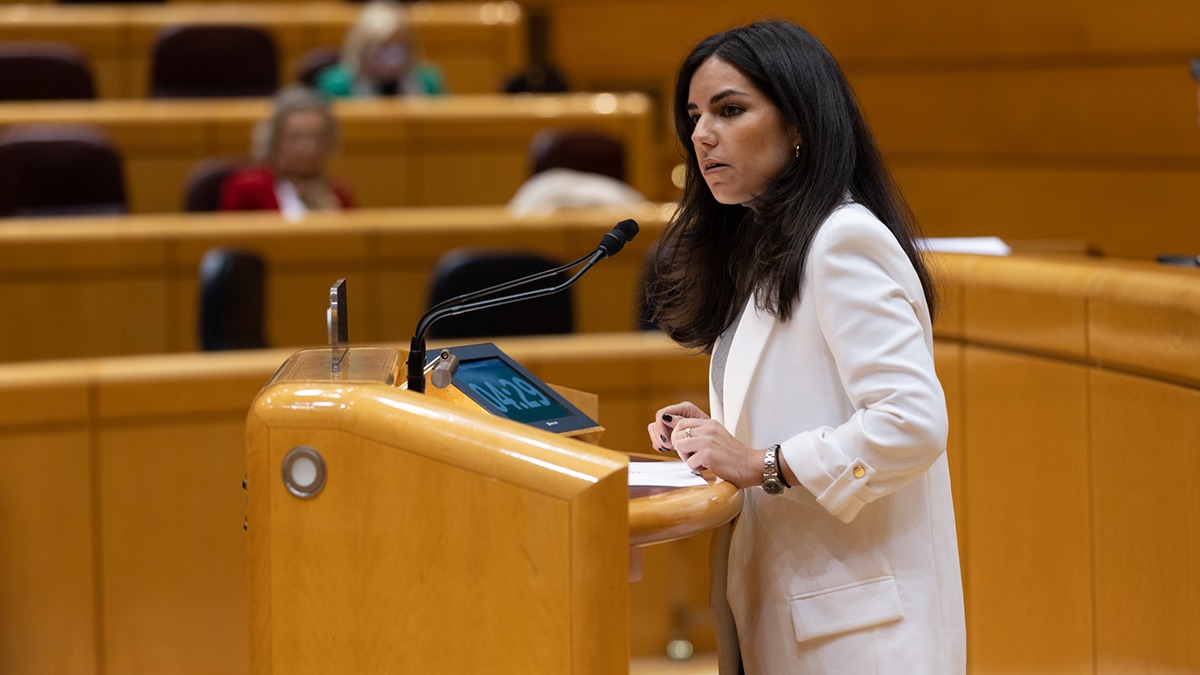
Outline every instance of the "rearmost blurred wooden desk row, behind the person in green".
[[[456, 94], [499, 91], [528, 60], [527, 17], [516, 2], [414, 2], [425, 56]], [[102, 98], [145, 97], [154, 41], [166, 26], [235, 23], [265, 29], [280, 52], [281, 84], [293, 82], [305, 52], [340, 47], [358, 19], [356, 2], [202, 2], [164, 5], [0, 5], [0, 42], [59, 41], [88, 55]]]

